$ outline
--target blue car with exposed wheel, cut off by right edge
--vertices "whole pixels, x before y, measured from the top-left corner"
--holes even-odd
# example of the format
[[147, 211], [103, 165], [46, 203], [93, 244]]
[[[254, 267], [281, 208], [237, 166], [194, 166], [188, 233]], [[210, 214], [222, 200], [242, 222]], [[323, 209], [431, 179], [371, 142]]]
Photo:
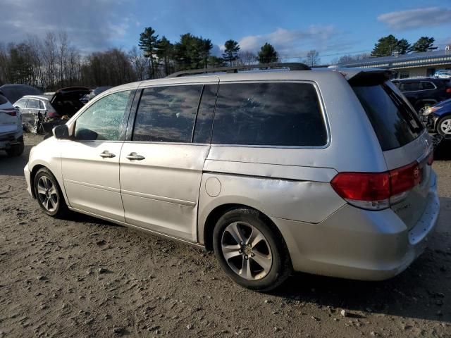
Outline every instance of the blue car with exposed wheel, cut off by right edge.
[[423, 117], [429, 130], [451, 139], [451, 99], [426, 109]]

